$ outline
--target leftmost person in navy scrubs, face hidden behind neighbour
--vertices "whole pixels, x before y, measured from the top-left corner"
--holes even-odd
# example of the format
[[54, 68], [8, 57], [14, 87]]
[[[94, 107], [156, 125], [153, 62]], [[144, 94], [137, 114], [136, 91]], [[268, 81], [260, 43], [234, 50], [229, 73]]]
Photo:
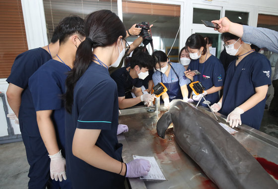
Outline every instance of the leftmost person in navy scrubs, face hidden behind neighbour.
[[30, 165], [28, 177], [29, 189], [51, 188], [52, 180], [49, 174], [50, 159], [47, 149], [40, 136], [36, 111], [34, 109], [28, 79], [45, 62], [56, 56], [59, 50], [61, 23], [54, 30], [51, 43], [45, 47], [30, 49], [19, 54], [12, 65], [7, 78], [9, 83], [6, 92], [9, 106], [19, 119], [21, 137], [25, 145], [27, 161]]

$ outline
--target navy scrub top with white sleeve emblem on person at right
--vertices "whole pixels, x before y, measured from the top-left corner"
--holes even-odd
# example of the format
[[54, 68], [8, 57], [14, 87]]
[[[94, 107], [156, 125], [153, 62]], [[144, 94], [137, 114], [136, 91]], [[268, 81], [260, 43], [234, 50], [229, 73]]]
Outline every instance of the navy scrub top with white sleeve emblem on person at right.
[[[235, 66], [235, 61], [229, 64], [226, 73], [221, 109], [223, 115], [228, 115], [248, 100], [255, 94], [256, 87], [271, 85], [271, 64], [265, 55], [252, 52], [245, 56], [237, 66]], [[241, 114], [242, 123], [259, 129], [265, 104], [266, 98]]]

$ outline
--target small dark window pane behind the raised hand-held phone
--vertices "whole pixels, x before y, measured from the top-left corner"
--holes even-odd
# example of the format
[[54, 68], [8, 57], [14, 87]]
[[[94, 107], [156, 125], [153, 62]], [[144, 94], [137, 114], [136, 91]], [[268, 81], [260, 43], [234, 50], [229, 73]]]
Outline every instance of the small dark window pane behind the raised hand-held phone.
[[193, 24], [203, 24], [201, 20], [219, 20], [220, 10], [193, 8]]

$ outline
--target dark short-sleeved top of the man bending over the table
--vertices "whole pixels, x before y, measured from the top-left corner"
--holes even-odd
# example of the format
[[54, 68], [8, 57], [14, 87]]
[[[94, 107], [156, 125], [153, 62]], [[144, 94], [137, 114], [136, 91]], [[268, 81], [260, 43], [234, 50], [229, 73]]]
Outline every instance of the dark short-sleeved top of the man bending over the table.
[[130, 76], [127, 67], [120, 68], [111, 74], [112, 79], [116, 82], [118, 87], [118, 96], [125, 96], [127, 91], [131, 91], [133, 87], [142, 87], [143, 80], [139, 78], [133, 79]]

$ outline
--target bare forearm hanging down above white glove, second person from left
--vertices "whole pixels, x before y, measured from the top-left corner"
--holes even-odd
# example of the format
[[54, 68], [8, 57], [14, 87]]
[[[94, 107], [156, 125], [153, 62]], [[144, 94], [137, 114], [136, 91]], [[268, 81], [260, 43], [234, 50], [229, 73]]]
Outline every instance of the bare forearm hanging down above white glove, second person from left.
[[51, 117], [42, 117], [37, 113], [39, 131], [49, 155], [59, 152], [55, 127]]

